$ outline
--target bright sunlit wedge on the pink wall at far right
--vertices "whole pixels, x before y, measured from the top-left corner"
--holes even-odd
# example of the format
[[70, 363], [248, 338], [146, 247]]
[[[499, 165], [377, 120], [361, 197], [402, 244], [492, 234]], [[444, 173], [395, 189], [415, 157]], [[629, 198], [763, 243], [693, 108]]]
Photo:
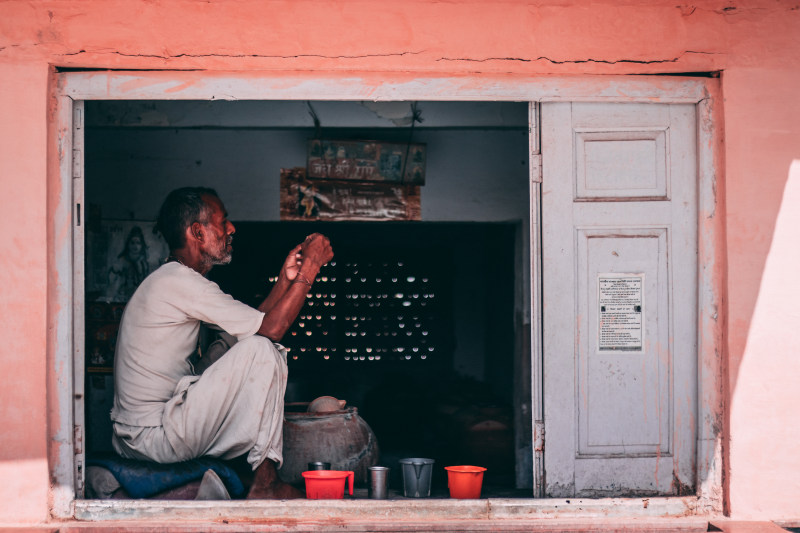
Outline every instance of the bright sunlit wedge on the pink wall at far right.
[[[800, 404], [800, 160], [795, 160], [777, 211], [747, 344], [735, 369], [746, 376], [731, 390], [729, 438], [734, 512], [781, 516], [796, 509], [800, 426], [792, 407]], [[734, 369], [732, 369], [733, 371]], [[732, 378], [735, 378], [733, 375]]]

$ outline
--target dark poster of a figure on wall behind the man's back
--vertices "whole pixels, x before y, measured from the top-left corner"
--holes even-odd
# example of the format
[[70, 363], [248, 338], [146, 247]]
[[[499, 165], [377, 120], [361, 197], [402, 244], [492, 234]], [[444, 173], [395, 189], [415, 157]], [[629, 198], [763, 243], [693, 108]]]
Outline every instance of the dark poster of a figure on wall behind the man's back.
[[103, 220], [86, 232], [87, 301], [127, 302], [139, 283], [169, 255], [155, 223]]

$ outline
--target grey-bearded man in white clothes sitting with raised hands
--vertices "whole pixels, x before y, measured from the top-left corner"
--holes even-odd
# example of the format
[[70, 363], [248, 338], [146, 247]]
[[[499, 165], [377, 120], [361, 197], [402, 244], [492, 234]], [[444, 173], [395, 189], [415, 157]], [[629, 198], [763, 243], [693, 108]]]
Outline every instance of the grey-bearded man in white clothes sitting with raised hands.
[[[131, 297], [114, 361], [114, 449], [159, 463], [247, 454], [254, 481], [248, 498], [302, 493], [280, 481], [286, 351], [279, 341], [302, 308], [319, 269], [333, 258], [319, 234], [289, 252], [278, 281], [254, 309], [204, 276], [231, 261], [235, 228], [212, 189], [171, 192], [157, 229], [168, 262]], [[201, 323], [238, 342], [198, 375], [190, 360]]]

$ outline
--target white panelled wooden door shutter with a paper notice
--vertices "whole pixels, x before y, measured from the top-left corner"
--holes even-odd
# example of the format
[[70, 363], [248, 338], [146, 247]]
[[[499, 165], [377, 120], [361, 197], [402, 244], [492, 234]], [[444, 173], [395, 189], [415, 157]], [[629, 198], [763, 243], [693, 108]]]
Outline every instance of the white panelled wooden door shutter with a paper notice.
[[696, 117], [545, 103], [545, 492], [694, 492]]

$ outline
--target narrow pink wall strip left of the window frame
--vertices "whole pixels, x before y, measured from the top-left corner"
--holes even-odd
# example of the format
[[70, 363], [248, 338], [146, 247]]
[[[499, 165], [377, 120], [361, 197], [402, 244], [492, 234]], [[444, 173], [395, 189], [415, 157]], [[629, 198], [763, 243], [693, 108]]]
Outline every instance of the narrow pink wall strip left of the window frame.
[[[2, 521], [30, 520], [47, 511], [47, 69], [3, 62], [0, 70]], [[20, 90], [23, 86], [36, 97]]]

